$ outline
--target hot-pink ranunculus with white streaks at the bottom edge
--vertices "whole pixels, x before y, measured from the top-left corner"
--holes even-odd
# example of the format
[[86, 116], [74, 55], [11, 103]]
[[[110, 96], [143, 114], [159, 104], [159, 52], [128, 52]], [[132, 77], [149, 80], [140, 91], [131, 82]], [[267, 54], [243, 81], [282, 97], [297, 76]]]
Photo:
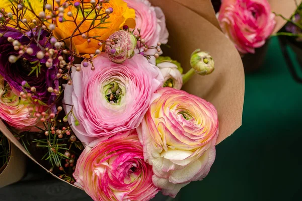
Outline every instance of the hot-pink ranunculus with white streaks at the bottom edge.
[[154, 186], [152, 175], [135, 130], [91, 142], [73, 173], [74, 184], [95, 201], [149, 200], [160, 190]]

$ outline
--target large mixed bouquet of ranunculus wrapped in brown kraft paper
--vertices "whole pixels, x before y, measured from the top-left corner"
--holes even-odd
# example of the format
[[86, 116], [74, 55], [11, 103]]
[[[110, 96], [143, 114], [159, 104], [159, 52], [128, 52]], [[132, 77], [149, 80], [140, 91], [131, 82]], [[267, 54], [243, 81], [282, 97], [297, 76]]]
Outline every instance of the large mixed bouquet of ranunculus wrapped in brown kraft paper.
[[5, 1], [0, 130], [94, 200], [175, 197], [202, 180], [241, 125], [244, 73], [179, 2]]

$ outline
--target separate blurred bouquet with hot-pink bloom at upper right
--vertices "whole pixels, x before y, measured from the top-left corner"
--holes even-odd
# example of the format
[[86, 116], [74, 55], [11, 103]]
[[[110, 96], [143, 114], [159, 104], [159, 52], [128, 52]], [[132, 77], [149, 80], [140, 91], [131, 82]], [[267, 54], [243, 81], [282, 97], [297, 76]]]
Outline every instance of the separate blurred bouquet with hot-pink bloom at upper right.
[[[214, 5], [217, 5], [214, 1]], [[223, 0], [218, 14], [222, 31], [242, 55], [246, 72], [259, 69], [267, 40], [284, 25], [295, 8], [294, 1]]]

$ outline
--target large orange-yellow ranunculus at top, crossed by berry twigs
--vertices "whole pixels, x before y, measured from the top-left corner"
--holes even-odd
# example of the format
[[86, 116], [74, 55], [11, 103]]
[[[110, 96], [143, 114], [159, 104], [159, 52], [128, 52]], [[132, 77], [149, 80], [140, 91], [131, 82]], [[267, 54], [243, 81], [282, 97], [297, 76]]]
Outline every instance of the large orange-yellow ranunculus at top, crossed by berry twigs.
[[[62, 0], [61, 3], [65, 2], [65, 0]], [[74, 4], [76, 2], [81, 3], [80, 0], [70, 1], [70, 3]], [[82, 3], [81, 3], [82, 7]], [[112, 33], [115, 31], [120, 30], [124, 25], [128, 25], [130, 28], [135, 27], [135, 11], [133, 9], [129, 9], [127, 7], [127, 4], [123, 0], [110, 0], [109, 3], [103, 3], [103, 8], [101, 10], [101, 13], [104, 13], [106, 9], [108, 8], [113, 9], [113, 13], [110, 14], [110, 18], [106, 20], [105, 24], [102, 24], [99, 26], [99, 28], [94, 28], [89, 31], [89, 34], [87, 34], [87, 31], [89, 30], [93, 19], [95, 18], [95, 12], [93, 11], [86, 19], [84, 23], [80, 26], [81, 33], [85, 33], [86, 35], [89, 35], [91, 38], [91, 42], [88, 43], [87, 39], [83, 39], [79, 30], [75, 31], [73, 35], [78, 35], [72, 38], [72, 41], [77, 47], [77, 50], [81, 54], [94, 54], [97, 49], [100, 48], [98, 45], [98, 40], [106, 40]], [[84, 13], [85, 16], [87, 16], [90, 11], [92, 10], [92, 5], [90, 4], [90, 0], [84, 0]], [[63, 35], [71, 36], [71, 34], [74, 32], [74, 30], [77, 28], [77, 26], [74, 24], [72, 17], [69, 17], [67, 15], [68, 12], [71, 12], [73, 17], [77, 16], [78, 9], [75, 8], [73, 5], [70, 5], [68, 8], [64, 11], [64, 19], [65, 22], [57, 22], [57, 27], [63, 32]], [[105, 15], [104, 15], [105, 16]], [[81, 9], [79, 10], [79, 14], [77, 16], [77, 24], [79, 25], [83, 21], [83, 14], [81, 12]], [[95, 25], [97, 26], [100, 23], [100, 20], [95, 21]], [[105, 27], [107, 29], [105, 29]], [[96, 40], [98, 39], [98, 40]]]

